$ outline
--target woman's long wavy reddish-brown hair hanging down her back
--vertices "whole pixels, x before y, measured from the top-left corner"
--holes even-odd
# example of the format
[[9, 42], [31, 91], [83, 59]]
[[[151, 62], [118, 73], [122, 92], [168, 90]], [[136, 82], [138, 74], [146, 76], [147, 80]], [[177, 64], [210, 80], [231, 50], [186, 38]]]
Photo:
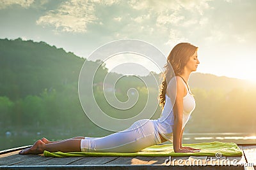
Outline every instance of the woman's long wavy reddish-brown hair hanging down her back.
[[173, 47], [168, 55], [167, 62], [164, 65], [164, 72], [161, 74], [161, 80], [163, 80], [163, 82], [159, 86], [158, 98], [162, 110], [165, 104], [165, 94], [169, 81], [173, 76], [179, 76], [183, 73], [189, 57], [191, 57], [197, 49], [197, 46], [191, 45], [190, 43], [179, 43]]

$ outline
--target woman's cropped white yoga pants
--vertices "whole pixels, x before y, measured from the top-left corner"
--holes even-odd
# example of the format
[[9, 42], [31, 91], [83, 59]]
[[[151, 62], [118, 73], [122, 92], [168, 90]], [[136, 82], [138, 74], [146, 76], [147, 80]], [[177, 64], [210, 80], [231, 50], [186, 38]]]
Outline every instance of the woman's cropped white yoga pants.
[[161, 143], [152, 120], [138, 120], [128, 129], [102, 138], [85, 137], [81, 152], [138, 152]]

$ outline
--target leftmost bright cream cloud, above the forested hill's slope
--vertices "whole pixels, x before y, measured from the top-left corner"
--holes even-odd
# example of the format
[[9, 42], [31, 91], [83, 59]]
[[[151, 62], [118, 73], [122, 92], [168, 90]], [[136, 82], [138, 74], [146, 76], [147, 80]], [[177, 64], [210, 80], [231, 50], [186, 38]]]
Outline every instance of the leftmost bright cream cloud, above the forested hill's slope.
[[96, 23], [95, 5], [107, 5], [119, 1], [84, 1], [69, 0], [60, 4], [56, 10], [48, 11], [46, 15], [36, 20], [38, 25], [51, 25], [61, 32], [86, 32], [88, 24]]

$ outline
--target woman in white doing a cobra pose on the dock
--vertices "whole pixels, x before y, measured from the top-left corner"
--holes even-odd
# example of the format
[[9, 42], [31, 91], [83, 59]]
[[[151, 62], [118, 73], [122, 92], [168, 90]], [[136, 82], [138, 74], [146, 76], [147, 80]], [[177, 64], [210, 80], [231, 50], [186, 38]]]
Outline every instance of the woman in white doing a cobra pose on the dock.
[[[189, 90], [191, 72], [200, 63], [197, 47], [189, 43], [176, 45], [164, 66], [163, 83], [159, 94], [163, 112], [157, 120], [138, 120], [128, 129], [102, 138], [76, 137], [63, 141], [43, 138], [22, 150], [20, 154], [49, 152], [138, 152], [164, 141], [173, 143], [174, 152], [198, 152], [199, 149], [182, 146], [184, 126], [195, 109], [195, 99]], [[172, 74], [172, 69], [174, 74]]]

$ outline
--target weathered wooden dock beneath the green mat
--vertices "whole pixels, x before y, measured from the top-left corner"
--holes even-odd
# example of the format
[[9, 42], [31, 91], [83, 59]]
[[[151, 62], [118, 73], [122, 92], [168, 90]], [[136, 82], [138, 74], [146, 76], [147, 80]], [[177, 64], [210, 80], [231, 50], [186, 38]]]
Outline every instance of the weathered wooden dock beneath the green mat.
[[250, 169], [256, 170], [256, 145], [239, 145], [241, 157], [64, 157], [19, 155], [28, 147], [0, 152], [0, 169]]

